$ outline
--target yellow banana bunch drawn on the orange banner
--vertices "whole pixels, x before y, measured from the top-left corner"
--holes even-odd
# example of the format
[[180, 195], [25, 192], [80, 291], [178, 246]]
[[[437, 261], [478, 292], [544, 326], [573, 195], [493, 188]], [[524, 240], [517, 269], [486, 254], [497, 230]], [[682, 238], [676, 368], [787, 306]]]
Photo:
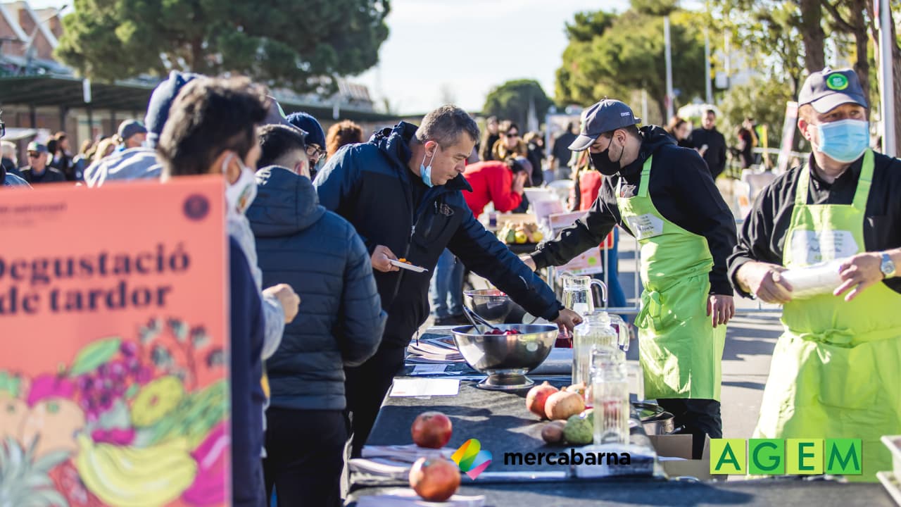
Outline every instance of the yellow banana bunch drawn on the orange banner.
[[87, 489], [115, 507], [159, 507], [172, 502], [194, 483], [197, 464], [187, 438], [154, 447], [96, 444], [78, 435], [75, 465]]

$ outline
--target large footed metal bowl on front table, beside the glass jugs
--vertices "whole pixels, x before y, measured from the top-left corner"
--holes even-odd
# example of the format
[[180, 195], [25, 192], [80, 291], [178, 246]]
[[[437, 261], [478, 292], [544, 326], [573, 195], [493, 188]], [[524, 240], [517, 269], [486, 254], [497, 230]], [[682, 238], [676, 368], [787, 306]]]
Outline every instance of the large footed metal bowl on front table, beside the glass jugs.
[[[499, 329], [516, 328], [518, 335], [483, 335], [472, 326], [451, 329], [453, 341], [463, 359], [487, 378], [476, 387], [493, 391], [516, 391], [534, 384], [525, 373], [542, 364], [557, 340], [558, 329], [549, 324], [499, 324]], [[486, 328], [486, 326], [479, 326]]]

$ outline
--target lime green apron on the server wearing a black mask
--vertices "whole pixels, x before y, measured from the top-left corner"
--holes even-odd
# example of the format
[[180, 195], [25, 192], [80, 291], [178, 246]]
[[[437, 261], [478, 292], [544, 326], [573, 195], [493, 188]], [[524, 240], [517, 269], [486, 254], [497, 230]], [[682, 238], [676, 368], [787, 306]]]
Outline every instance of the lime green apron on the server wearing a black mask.
[[[644, 162], [638, 194], [616, 203], [642, 247], [642, 310], [635, 318], [648, 399], [720, 399], [726, 327], [707, 317], [714, 259], [704, 236], [679, 227], [657, 211], [648, 195], [651, 159]], [[623, 179], [620, 179], [622, 183]]]

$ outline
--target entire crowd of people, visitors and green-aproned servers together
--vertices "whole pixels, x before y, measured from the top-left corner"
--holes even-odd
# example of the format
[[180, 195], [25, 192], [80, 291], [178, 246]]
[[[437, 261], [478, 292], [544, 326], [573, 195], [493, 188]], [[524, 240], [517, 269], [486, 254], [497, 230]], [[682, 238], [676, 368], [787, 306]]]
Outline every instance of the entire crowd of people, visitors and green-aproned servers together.
[[[679, 431], [696, 436], [696, 456], [705, 436], [723, 434], [721, 362], [735, 290], [786, 305], [787, 332], [758, 434], [859, 438], [866, 431], [869, 441], [901, 432], [896, 392], [881, 394], [885, 379], [901, 371], [901, 321], [891, 311], [901, 286], [883, 281], [901, 263], [901, 205], [891, 197], [901, 169], [870, 152], [866, 138], [863, 148], [850, 142], [865, 132], [867, 104], [855, 95], [853, 71], [842, 72], [851, 83], [844, 91], [826, 88], [831, 70], [808, 78], [799, 125], [816, 147], [810, 170], [774, 182], [741, 234], [714, 185], [725, 158], [714, 112], [688, 134], [678, 118], [667, 129], [640, 126], [632, 108], [612, 99], [588, 107], [578, 134], [570, 125], [547, 156], [541, 135], [523, 136], [519, 125], [496, 118], [480, 133], [456, 106], [367, 141], [351, 122], [326, 134], [312, 115], [285, 115], [249, 79], [172, 72], [154, 90], [143, 123], [123, 122], [114, 137], [75, 157], [62, 133], [53, 143], [29, 143], [29, 163], [19, 170], [5, 157], [2, 176], [6, 185], [68, 180], [96, 188], [223, 175], [235, 505], [265, 505], [273, 490], [280, 505], [339, 504], [345, 444], [360, 455], [430, 307], [443, 312], [436, 323], [459, 317], [461, 302], [452, 296], [463, 266], [530, 314], [571, 330], [581, 317], [535, 271], [567, 263], [610, 234], [615, 244], [617, 227], [642, 249], [635, 325], [646, 396], [675, 414]], [[552, 174], [561, 164], [575, 168], [573, 205], [585, 217], [533, 253], [511, 253], [478, 216], [488, 203], [498, 211], [527, 206], [524, 189], [541, 183], [542, 167]], [[853, 306], [834, 297], [791, 300], [779, 273], [814, 262], [793, 232], [824, 244], [841, 239], [827, 234], [835, 227], [851, 231], [857, 250], [845, 243], [821, 251], [851, 255], [836, 294], [851, 290]], [[399, 259], [429, 272], [400, 270]], [[824, 360], [830, 356], [841, 356], [840, 370]], [[824, 389], [833, 383], [842, 386]], [[865, 416], [873, 418], [868, 429], [860, 426]], [[876, 447], [865, 463], [885, 457]]]

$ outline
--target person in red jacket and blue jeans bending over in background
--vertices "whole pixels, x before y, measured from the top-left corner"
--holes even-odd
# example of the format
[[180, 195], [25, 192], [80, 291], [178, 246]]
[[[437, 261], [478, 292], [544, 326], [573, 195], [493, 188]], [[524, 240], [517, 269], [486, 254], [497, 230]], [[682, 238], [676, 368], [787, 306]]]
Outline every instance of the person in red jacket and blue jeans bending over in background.
[[[477, 218], [489, 202], [495, 203], [497, 211], [512, 211], [523, 202], [523, 189], [531, 173], [532, 164], [523, 157], [469, 164], [463, 177], [472, 192], [463, 192], [463, 198]], [[463, 264], [453, 253], [441, 253], [429, 288], [436, 326], [467, 322], [463, 317], [464, 278]]]

